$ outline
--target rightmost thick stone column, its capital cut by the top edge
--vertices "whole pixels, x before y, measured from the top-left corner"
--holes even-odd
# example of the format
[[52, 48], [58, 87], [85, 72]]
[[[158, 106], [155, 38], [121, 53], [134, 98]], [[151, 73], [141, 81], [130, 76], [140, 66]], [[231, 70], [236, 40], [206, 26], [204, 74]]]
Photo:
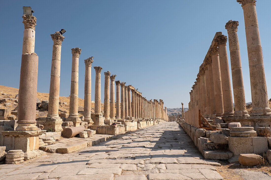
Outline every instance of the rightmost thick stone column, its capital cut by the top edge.
[[264, 74], [263, 53], [256, 13], [256, 1], [237, 0], [237, 2], [242, 4], [245, 20], [252, 97], [250, 116], [271, 115]]

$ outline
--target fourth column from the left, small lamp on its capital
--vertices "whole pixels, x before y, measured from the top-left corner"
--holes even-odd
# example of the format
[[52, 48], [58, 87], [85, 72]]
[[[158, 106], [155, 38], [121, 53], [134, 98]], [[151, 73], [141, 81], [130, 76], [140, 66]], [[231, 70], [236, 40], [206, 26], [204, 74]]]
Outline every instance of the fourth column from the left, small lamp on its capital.
[[84, 96], [84, 121], [92, 125], [91, 119], [91, 64], [93, 57], [85, 59], [85, 96]]

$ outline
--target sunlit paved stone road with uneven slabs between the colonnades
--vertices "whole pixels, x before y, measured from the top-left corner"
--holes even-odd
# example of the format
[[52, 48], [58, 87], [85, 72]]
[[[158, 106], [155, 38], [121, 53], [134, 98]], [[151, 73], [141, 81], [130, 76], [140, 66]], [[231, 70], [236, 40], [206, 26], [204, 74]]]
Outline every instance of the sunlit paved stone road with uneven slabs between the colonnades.
[[0, 165], [1, 179], [223, 179], [176, 122], [139, 129], [71, 154]]

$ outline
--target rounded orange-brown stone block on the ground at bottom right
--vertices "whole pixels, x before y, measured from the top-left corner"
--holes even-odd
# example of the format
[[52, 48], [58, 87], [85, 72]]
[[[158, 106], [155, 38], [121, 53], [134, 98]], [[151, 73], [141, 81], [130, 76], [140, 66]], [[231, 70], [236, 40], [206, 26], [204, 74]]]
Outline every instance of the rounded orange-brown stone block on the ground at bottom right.
[[255, 166], [263, 164], [262, 156], [257, 154], [240, 154], [238, 161], [243, 166]]

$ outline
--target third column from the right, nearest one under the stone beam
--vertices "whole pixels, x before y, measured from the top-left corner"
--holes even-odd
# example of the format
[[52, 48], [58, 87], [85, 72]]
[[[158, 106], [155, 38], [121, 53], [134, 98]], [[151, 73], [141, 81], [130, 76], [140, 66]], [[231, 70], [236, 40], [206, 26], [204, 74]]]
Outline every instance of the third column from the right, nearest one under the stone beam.
[[223, 117], [232, 117], [234, 114], [234, 110], [233, 110], [233, 97], [231, 93], [230, 70], [226, 48], [227, 36], [219, 35], [217, 36], [217, 38], [215, 38], [215, 42], [217, 42], [218, 44], [222, 95], [223, 99], [225, 99], [225, 101], [223, 101], [224, 107]]

